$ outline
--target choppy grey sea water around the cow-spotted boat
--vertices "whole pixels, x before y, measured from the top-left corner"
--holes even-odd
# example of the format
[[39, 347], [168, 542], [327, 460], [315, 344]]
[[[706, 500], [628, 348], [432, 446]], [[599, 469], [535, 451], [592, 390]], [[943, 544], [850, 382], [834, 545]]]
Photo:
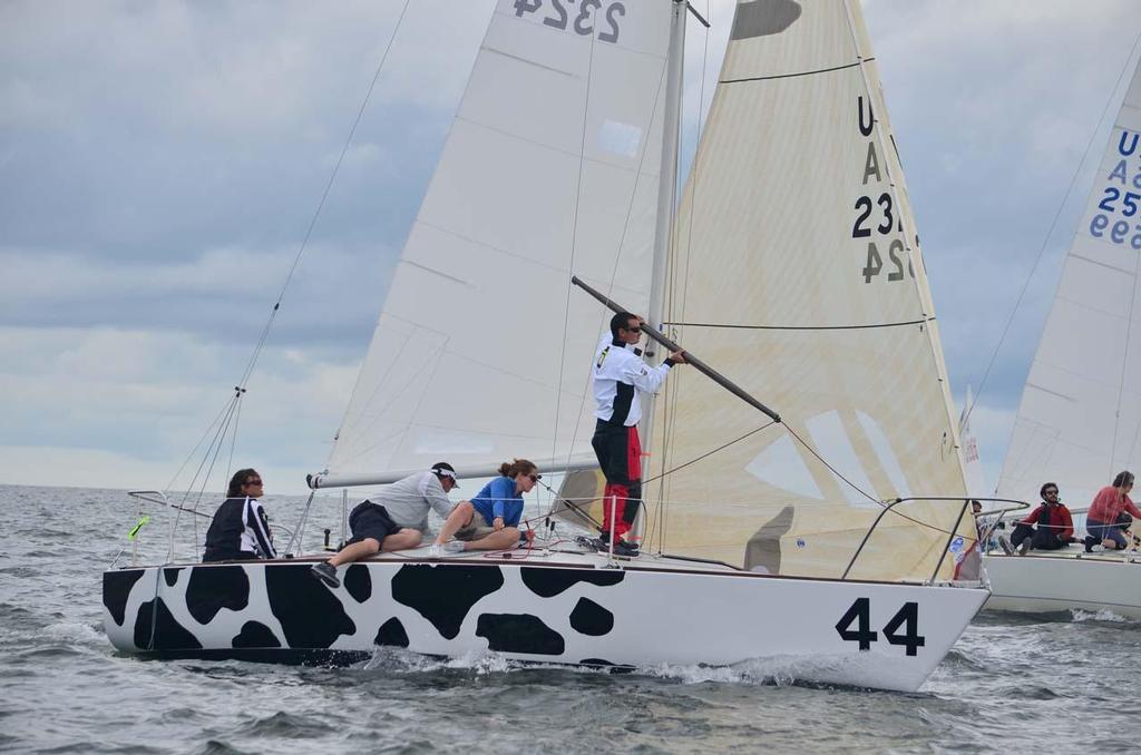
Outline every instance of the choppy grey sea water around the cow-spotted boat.
[[[300, 500], [266, 501], [293, 523]], [[747, 666], [610, 675], [390, 651], [335, 669], [138, 660], [102, 628], [102, 573], [135, 522], [126, 494], [0, 487], [0, 511], [2, 750], [1059, 753], [1141, 741], [1141, 624], [1112, 615], [984, 615], [916, 695], [802, 687]], [[315, 511], [314, 549], [340, 506]], [[152, 512], [144, 528], [151, 559], [165, 553], [169, 517]]]

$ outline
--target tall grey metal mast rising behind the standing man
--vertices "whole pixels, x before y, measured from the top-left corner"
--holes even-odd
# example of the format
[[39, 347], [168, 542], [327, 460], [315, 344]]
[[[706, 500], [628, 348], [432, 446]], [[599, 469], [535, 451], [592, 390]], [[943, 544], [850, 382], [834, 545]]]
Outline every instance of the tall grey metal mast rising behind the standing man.
[[[673, 0], [670, 9], [670, 51], [666, 58], [665, 119], [662, 128], [662, 171], [657, 185], [657, 226], [654, 229], [654, 266], [650, 273], [649, 309], [646, 318], [656, 328], [662, 327], [665, 308], [665, 261], [670, 252], [673, 229], [673, 210], [678, 204], [678, 144], [681, 124], [681, 75], [686, 51], [687, 0]], [[638, 435], [642, 448], [649, 449], [654, 432], [654, 396], [644, 395], [642, 420]], [[641, 535], [645, 521], [636, 519], [634, 530]]]

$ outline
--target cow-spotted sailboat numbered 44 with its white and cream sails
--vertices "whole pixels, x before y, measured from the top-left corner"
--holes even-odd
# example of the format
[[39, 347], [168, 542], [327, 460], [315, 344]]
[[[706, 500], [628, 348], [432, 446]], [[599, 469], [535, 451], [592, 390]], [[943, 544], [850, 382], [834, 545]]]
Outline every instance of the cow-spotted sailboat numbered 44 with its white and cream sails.
[[461, 477], [492, 474], [527, 457], [573, 497], [596, 477], [589, 366], [610, 317], [575, 276], [780, 421], [675, 370], [644, 412], [638, 558], [558, 539], [420, 549], [349, 566], [337, 590], [309, 574], [311, 555], [131, 566], [104, 575], [115, 648], [325, 663], [390, 646], [923, 683], [988, 593], [960, 574], [974, 529], [859, 6], [738, 3], [679, 201], [690, 14], [675, 0], [500, 0], [310, 485], [382, 484], [445, 457]]

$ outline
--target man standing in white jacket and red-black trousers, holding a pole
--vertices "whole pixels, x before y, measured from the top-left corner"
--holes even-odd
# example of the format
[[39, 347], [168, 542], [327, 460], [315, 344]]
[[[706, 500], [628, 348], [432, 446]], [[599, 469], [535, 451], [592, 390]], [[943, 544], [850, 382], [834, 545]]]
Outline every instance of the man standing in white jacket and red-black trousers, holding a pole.
[[650, 367], [636, 349], [641, 340], [642, 318], [618, 312], [610, 318], [610, 332], [602, 336], [594, 352], [592, 370], [594, 400], [594, 436], [591, 445], [606, 477], [602, 497], [602, 543], [609, 545], [614, 533], [614, 552], [637, 555], [638, 544], [625, 539], [641, 503], [641, 420], [640, 393], [653, 393], [675, 364], [686, 364], [686, 352], [674, 351], [662, 364]]

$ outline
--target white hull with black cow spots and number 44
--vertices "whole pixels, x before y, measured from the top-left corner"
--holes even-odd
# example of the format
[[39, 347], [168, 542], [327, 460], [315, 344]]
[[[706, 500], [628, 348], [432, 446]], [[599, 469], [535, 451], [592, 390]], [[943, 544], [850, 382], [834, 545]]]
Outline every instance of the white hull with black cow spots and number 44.
[[[421, 551], [422, 552], [422, 551]], [[761, 661], [796, 680], [913, 691], [987, 598], [980, 588], [799, 579], [642, 557], [311, 560], [104, 574], [114, 647], [173, 658], [339, 663], [378, 646], [620, 666]]]

